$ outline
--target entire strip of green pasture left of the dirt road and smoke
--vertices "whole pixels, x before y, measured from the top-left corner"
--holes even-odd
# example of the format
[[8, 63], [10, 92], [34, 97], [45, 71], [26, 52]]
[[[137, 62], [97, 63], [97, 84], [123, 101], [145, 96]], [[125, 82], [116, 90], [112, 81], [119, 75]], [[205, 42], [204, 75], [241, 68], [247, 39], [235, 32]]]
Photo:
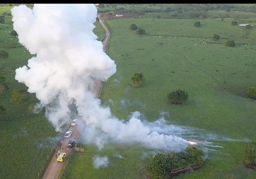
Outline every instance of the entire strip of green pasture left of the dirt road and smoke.
[[6, 115], [0, 121], [0, 178], [36, 179], [44, 166], [50, 150], [54, 146], [51, 137], [56, 136], [53, 126], [44, 114], [27, 113], [27, 105], [36, 103], [35, 94], [22, 104], [9, 102], [12, 91], [27, 87], [15, 80], [15, 70], [27, 64], [32, 55], [23, 47], [18, 38], [10, 35], [13, 31], [10, 9], [13, 6], [0, 6], [5, 24], [0, 25], [0, 50], [9, 54], [7, 59], [0, 58], [0, 76], [5, 77], [9, 90], [0, 94], [0, 106], [6, 109]]

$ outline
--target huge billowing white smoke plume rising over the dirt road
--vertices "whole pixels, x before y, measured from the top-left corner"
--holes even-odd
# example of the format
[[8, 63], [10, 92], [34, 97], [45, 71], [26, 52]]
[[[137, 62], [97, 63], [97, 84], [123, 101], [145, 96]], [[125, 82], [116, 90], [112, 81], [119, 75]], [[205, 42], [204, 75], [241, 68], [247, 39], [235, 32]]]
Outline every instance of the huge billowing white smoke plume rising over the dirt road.
[[92, 92], [93, 81], [106, 81], [116, 65], [93, 33], [93, 4], [35, 4], [33, 9], [19, 5], [11, 12], [19, 42], [35, 54], [27, 66], [16, 69], [15, 79], [36, 94], [56, 131], [70, 122], [69, 105], [75, 102], [87, 124], [84, 141], [100, 149], [107, 141], [173, 151], [189, 144], [177, 136], [186, 134], [186, 128], [168, 125], [164, 119], [142, 122], [139, 112], [128, 121], [119, 120], [109, 107], [101, 106]]

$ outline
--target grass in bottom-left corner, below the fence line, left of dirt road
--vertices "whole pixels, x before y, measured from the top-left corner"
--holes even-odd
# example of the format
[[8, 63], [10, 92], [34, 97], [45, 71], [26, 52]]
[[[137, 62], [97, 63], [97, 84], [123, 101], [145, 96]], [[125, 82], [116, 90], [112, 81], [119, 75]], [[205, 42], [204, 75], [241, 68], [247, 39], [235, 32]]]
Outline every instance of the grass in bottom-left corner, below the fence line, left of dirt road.
[[9, 119], [0, 125], [1, 178], [36, 179], [56, 135], [44, 114]]

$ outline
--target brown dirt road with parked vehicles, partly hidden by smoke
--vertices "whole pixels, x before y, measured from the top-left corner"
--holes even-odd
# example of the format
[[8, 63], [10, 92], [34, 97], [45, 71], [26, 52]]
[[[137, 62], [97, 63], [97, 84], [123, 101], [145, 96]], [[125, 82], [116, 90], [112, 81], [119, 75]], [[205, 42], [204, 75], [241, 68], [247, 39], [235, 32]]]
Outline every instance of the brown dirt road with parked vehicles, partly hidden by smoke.
[[[100, 24], [102, 25], [102, 28], [106, 31], [106, 36], [102, 42], [103, 44], [103, 50], [106, 52], [106, 48], [107, 48], [107, 44], [108, 44], [108, 41], [110, 39], [110, 32], [109, 30], [106, 28], [106, 26], [104, 25], [103, 21], [100, 20]], [[95, 94], [95, 96], [99, 96], [100, 95], [100, 92], [101, 92], [101, 85], [102, 85], [102, 81], [100, 80], [95, 80], [94, 81], [94, 84], [93, 84], [93, 89], [92, 89], [92, 92]], [[78, 123], [79, 124], [79, 123]], [[78, 125], [77, 124], [77, 125]], [[64, 149], [60, 149], [60, 153], [62, 152], [66, 152], [67, 154], [67, 157], [64, 159], [64, 162], [57, 162], [57, 155], [58, 153], [55, 153], [53, 155], [53, 158], [51, 159], [49, 165], [47, 166], [45, 172], [44, 172], [44, 175], [42, 177], [42, 179], [58, 179], [58, 176], [60, 175], [61, 171], [62, 171], [62, 168], [63, 166], [65, 165], [66, 163], [66, 160], [67, 158], [69, 157], [70, 153], [71, 153], [71, 150], [74, 149], [75, 147], [73, 148], [70, 148], [70, 147], [67, 147], [67, 144], [70, 140], [75, 140], [77, 141], [78, 137], [79, 137], [79, 131], [78, 129], [76, 128], [76, 126], [71, 126], [69, 128], [69, 131], [72, 131], [72, 135], [69, 139], [64, 139], [62, 141], [62, 144], [64, 143], [65, 146], [66, 146], [66, 151]]]

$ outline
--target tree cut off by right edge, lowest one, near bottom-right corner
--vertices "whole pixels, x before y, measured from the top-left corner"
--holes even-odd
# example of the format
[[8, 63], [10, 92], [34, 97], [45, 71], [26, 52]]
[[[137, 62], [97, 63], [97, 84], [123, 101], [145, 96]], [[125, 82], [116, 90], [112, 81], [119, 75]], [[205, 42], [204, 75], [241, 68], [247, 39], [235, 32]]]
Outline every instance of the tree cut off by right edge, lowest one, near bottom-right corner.
[[256, 166], [256, 142], [248, 142], [245, 146], [243, 162], [249, 166]]

